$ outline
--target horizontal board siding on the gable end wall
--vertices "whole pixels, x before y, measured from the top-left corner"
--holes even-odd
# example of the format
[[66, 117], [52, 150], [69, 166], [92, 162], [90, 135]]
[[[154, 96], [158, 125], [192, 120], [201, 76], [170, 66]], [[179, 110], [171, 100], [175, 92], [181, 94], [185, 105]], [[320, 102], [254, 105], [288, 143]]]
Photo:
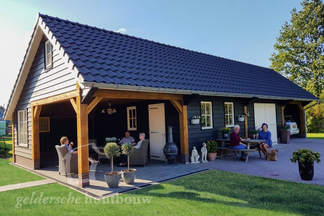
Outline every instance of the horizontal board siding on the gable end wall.
[[[44, 41], [41, 39], [39, 47], [30, 66], [28, 76], [21, 91], [14, 112], [14, 151], [15, 154], [27, 159], [32, 158], [32, 125], [31, 125], [31, 101], [46, 97], [52, 97], [72, 90], [75, 90], [75, 77], [67, 68], [66, 63], [59, 55], [59, 51], [53, 49], [53, 67], [44, 70]], [[28, 145], [17, 146], [17, 110], [27, 109], [28, 113]]]

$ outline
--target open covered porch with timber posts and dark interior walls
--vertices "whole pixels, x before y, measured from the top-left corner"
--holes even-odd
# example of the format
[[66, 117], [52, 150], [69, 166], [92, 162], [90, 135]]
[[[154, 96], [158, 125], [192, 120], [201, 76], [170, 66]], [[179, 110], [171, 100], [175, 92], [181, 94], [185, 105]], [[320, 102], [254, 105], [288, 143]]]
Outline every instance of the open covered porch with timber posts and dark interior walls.
[[[108, 101], [111, 101], [113, 106], [117, 108], [117, 113], [123, 113], [122, 119], [120, 115], [117, 117], [118, 115], [116, 114], [107, 115], [106, 113], [101, 113], [102, 108], [107, 108]], [[179, 147], [178, 162], [189, 162], [188, 120], [183, 95], [95, 89], [92, 90], [91, 93], [88, 92], [86, 96], [82, 96], [81, 88], [77, 84], [75, 91], [31, 102], [32, 161], [34, 170], [52, 167], [53, 162], [55, 164], [55, 160], [58, 160], [56, 157], [57, 153], [53, 147], [55, 144], [59, 144], [59, 139], [62, 136], [68, 136], [70, 141], [77, 141], [77, 149], [75, 149], [78, 151], [77, 186], [82, 188], [89, 184], [91, 185], [91, 170], [88, 163], [88, 143], [90, 140], [96, 139], [97, 144], [103, 146], [105, 144], [105, 137], [115, 136], [121, 139], [124, 136], [124, 132], [127, 131], [127, 127], [119, 127], [121, 125], [121, 120], [127, 122], [127, 119], [125, 119], [125, 115], [127, 115], [126, 107], [136, 104], [138, 106], [138, 116], [142, 116], [143, 121], [147, 123], [139, 127], [137, 131], [131, 131], [131, 135], [136, 140], [136, 138], [138, 139], [139, 132], [145, 132], [146, 138], [151, 138], [148, 115], [146, 114], [147, 106], [159, 103], [163, 103], [166, 110], [173, 109], [173, 113], [171, 114], [167, 111], [165, 112], [165, 126], [176, 126], [176, 139], [178, 139], [176, 144], [178, 144]], [[68, 111], [69, 109], [70, 111]], [[71, 115], [71, 110], [74, 116]], [[146, 112], [143, 112], [144, 110], [146, 110]], [[65, 117], [63, 114], [61, 117], [58, 116], [52, 119], [56, 122], [54, 125], [56, 131], [53, 128], [51, 129], [54, 130], [53, 132], [56, 134], [55, 138], [53, 136], [48, 136], [49, 133], [40, 133], [39, 118], [50, 116], [51, 119], [51, 116], [54, 117], [59, 112], [70, 112], [70, 114]], [[109, 120], [107, 120], [107, 116], [109, 116]], [[167, 118], [167, 116], [170, 118]], [[137, 119], [138, 124], [140, 124], [140, 120], [141, 119]], [[66, 124], [65, 127], [64, 123]], [[53, 127], [53, 125], [51, 127]], [[69, 130], [74, 132], [74, 136], [66, 134], [66, 131]], [[71, 134], [73, 132], [71, 132]], [[46, 151], [47, 147], [44, 147], [46, 145], [51, 146], [52, 151]], [[97, 159], [96, 156], [94, 158]], [[162, 160], [164, 160], [164, 158]]]

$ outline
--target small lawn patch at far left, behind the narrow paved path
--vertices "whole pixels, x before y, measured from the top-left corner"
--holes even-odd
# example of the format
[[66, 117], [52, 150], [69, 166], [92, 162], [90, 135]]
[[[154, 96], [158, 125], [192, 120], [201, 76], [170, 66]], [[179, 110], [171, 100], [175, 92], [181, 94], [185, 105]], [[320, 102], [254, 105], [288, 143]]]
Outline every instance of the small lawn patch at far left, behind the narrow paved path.
[[44, 177], [9, 164], [9, 161], [6, 159], [0, 159], [0, 173], [0, 186], [45, 179]]

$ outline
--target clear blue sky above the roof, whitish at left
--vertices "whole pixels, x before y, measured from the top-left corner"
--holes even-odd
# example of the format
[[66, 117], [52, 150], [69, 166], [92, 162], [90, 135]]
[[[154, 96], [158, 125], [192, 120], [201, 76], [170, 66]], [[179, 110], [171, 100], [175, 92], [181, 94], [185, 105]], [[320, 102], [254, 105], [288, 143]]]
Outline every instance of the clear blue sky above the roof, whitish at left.
[[37, 12], [269, 67], [279, 30], [300, 1], [0, 0], [0, 104], [8, 101]]

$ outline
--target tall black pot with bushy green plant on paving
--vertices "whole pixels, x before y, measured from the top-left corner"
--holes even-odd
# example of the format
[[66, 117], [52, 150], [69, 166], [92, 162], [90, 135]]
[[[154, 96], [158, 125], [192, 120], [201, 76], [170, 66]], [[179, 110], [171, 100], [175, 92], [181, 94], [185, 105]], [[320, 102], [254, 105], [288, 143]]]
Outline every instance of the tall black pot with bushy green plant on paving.
[[298, 170], [301, 179], [310, 181], [314, 176], [314, 161], [319, 163], [321, 161], [320, 156], [321, 154], [318, 152], [313, 152], [308, 148], [300, 148], [293, 152], [293, 157], [290, 158], [290, 161], [293, 163], [298, 161]]

